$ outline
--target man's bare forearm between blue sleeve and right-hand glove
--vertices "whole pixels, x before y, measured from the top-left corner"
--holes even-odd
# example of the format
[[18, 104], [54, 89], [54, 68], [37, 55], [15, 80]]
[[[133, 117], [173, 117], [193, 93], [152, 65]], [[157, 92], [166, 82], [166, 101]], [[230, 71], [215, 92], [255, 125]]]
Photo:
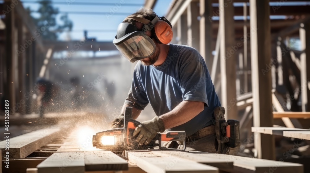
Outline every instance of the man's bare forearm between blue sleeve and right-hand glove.
[[159, 116], [159, 118], [162, 119], [165, 129], [170, 129], [193, 119], [203, 111], [204, 104], [196, 101], [182, 101], [172, 111]]

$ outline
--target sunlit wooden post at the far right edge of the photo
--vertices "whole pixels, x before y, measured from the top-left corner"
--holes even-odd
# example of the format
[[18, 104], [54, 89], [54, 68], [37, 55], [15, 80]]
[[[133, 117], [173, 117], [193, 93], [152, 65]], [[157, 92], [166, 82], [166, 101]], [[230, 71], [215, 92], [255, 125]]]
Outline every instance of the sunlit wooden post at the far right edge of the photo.
[[[301, 109], [310, 111], [310, 91], [308, 91], [308, 80], [310, 77], [310, 27], [309, 23], [301, 23], [299, 28], [299, 37], [301, 45], [300, 55], [300, 78], [301, 78]], [[308, 60], [307, 60], [308, 58]]]

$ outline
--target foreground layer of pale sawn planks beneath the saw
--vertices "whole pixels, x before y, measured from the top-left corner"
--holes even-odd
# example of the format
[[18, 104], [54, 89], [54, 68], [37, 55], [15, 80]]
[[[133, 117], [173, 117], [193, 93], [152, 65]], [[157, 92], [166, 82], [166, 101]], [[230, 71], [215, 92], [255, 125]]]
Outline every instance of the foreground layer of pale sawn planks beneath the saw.
[[[59, 128], [42, 129], [10, 139], [10, 169], [4, 172], [241, 172], [302, 173], [303, 165], [240, 156], [183, 151], [126, 151], [120, 157], [109, 150], [83, 148], [67, 137], [63, 144], [48, 144], [59, 136]], [[27, 139], [27, 140], [26, 140]], [[3, 145], [3, 142], [2, 142]], [[2, 146], [3, 147], [3, 146]], [[49, 157], [26, 158], [40, 147], [51, 147]], [[3, 153], [3, 148], [2, 148]], [[2, 158], [3, 159], [3, 158]], [[29, 168], [29, 169], [27, 169]], [[31, 168], [31, 169], [30, 169]]]

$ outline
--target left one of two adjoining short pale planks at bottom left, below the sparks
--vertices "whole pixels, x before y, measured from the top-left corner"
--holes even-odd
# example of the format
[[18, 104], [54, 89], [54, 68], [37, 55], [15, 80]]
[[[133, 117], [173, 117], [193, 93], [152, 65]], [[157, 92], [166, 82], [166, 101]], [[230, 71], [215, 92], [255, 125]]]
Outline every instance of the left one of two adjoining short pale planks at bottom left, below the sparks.
[[83, 153], [54, 153], [38, 166], [38, 173], [84, 173]]

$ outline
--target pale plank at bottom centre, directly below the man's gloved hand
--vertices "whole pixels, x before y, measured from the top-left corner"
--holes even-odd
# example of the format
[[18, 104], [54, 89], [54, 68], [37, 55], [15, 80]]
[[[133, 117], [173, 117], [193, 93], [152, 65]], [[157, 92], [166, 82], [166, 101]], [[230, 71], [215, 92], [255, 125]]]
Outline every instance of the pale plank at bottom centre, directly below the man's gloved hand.
[[127, 152], [128, 160], [149, 173], [219, 172], [218, 168], [175, 156], [164, 156], [156, 151]]

